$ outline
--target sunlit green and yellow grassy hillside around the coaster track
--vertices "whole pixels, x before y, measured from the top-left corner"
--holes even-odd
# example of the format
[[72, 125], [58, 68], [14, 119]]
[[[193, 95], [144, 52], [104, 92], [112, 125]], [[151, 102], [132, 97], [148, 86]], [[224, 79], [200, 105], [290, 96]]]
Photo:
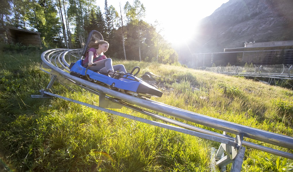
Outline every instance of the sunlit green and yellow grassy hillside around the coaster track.
[[[40, 55], [39, 51], [0, 52], [0, 171], [210, 170], [210, 149], [217, 149], [217, 142], [58, 98], [31, 98], [50, 81], [39, 70]], [[293, 137], [292, 90], [182, 66], [137, 61], [113, 63], [123, 63], [127, 70], [140, 66], [141, 75], [147, 71], [159, 75], [156, 84], [163, 90], [163, 96], [156, 101]], [[193, 91], [191, 87], [199, 90]], [[97, 96], [79, 87], [74, 89], [78, 93], [55, 83], [51, 91], [97, 105]], [[126, 108], [119, 111], [151, 119]], [[289, 171], [292, 165], [293, 160], [246, 149], [242, 171]]]

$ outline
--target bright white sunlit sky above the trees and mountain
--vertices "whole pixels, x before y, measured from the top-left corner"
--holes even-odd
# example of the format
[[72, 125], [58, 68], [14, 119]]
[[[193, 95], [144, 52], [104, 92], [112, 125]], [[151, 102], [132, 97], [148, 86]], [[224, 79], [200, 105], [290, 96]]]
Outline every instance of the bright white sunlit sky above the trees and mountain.
[[[146, 9], [145, 21], [155, 24], [157, 20], [162, 31], [160, 34], [170, 43], [188, 41], [195, 32], [197, 22], [210, 16], [217, 8], [229, 0], [140, 0]], [[96, 0], [102, 12], [105, 0]], [[108, 6], [112, 5], [118, 13], [120, 6], [127, 0], [107, 0]], [[133, 5], [133, 0], [128, 0]]]

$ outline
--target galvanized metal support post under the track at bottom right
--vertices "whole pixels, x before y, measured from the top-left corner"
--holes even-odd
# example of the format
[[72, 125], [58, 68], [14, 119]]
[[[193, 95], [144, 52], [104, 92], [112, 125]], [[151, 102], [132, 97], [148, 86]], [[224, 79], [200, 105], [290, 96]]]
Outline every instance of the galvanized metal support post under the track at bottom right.
[[[223, 134], [226, 135], [226, 132]], [[235, 142], [238, 144], [237, 147], [221, 143], [217, 153], [212, 156], [212, 159], [215, 159], [214, 165], [218, 166], [222, 171], [226, 171], [226, 165], [232, 163], [230, 172], [240, 172], [245, 152], [242, 141], [243, 134], [240, 134], [235, 137]], [[224, 156], [224, 153], [226, 153], [226, 156]]]

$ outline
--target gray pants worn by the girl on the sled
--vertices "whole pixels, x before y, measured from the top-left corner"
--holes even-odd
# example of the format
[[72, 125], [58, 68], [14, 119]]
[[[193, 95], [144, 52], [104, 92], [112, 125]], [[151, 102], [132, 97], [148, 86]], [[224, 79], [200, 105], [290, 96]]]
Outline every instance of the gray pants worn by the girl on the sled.
[[112, 59], [110, 59], [110, 58], [103, 59], [103, 60], [100, 60], [100, 61], [96, 61], [94, 63], [97, 64], [97, 65], [96, 66], [91, 66], [88, 69], [90, 69], [90, 70], [98, 70], [98, 71], [101, 71], [103, 73], [108, 73], [110, 70], [113, 70], [113, 71], [119, 70], [119, 72], [127, 73], [124, 65], [119, 64], [119, 65], [114, 65], [113, 66], [112, 65]]

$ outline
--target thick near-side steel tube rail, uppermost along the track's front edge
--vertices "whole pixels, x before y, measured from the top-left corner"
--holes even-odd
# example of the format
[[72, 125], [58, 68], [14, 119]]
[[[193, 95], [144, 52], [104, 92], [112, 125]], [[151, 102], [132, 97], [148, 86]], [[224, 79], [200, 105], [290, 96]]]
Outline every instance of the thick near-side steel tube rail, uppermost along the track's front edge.
[[254, 140], [259, 140], [262, 142], [293, 149], [293, 137], [289, 137], [289, 136], [285, 136], [285, 135], [281, 135], [277, 133], [272, 133], [272, 132], [268, 132], [268, 131], [260, 130], [256, 128], [251, 128], [251, 127], [236, 124], [236, 123], [231, 123], [228, 121], [204, 116], [198, 113], [175, 108], [173, 106], [169, 106], [169, 105], [158, 103], [158, 102], [152, 102], [149, 100], [140, 99], [137, 97], [133, 97], [131, 95], [127, 95], [121, 92], [117, 92], [115, 90], [108, 89], [106, 87], [94, 84], [92, 82], [83, 80], [81, 78], [72, 76], [69, 73], [65, 72], [64, 70], [61, 70], [58, 67], [55, 67], [54, 65], [52, 65], [52, 63], [50, 63], [49, 61], [45, 59], [45, 55], [49, 53], [50, 51], [54, 51], [54, 50], [56, 49], [47, 50], [43, 52], [41, 55], [42, 61], [47, 66], [49, 66], [52, 70], [56, 71], [57, 73], [64, 76], [65, 78], [69, 78], [71, 80], [74, 80], [75, 82], [82, 83], [82, 85], [89, 87], [93, 90], [98, 90], [99, 92], [103, 92], [104, 94], [108, 94], [110, 96], [129, 102], [130, 104], [136, 104], [138, 106], [145, 107], [147, 109], [151, 109], [157, 112], [165, 113], [167, 115], [181, 118], [190, 122], [212, 127], [218, 130], [232, 133], [232, 134], [237, 134], [237, 135], [243, 134], [244, 137], [248, 137]]

